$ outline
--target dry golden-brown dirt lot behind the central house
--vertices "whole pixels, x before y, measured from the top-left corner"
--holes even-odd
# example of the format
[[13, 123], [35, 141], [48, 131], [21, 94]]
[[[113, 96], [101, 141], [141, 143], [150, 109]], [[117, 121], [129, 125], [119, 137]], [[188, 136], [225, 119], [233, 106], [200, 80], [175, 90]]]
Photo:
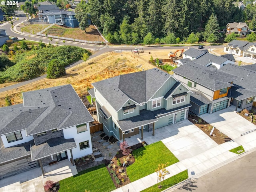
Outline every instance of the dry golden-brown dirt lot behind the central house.
[[[99, 60], [100, 58], [100, 60]], [[22, 102], [22, 92], [38, 90], [48, 87], [72, 84], [78, 94], [86, 92], [87, 88], [92, 88], [91, 83], [106, 78], [138, 72], [142, 69], [148, 70], [154, 66], [136, 58], [130, 52], [106, 53], [73, 68], [66, 70], [67, 75], [58, 79], [43, 79], [32, 84], [27, 84], [15, 90], [0, 93], [0, 106], [4, 105], [4, 97], [8, 94], [13, 104]], [[7, 86], [8, 84], [1, 84]]]

